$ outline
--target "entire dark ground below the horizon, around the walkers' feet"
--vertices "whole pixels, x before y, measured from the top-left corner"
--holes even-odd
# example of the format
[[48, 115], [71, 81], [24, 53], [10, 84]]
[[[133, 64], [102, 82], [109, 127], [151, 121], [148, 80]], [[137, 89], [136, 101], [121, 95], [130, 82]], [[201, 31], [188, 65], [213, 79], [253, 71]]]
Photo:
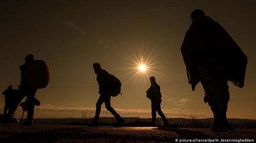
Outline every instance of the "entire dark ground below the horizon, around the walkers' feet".
[[[100, 118], [99, 127], [89, 127], [88, 119], [35, 119], [33, 126], [20, 123], [0, 124], [0, 142], [187, 142], [180, 139], [247, 139], [256, 138], [256, 120], [229, 119], [236, 129], [212, 132], [213, 119], [168, 119], [170, 127], [162, 126], [157, 118], [156, 127], [150, 119], [124, 118], [123, 127], [113, 127], [114, 118]], [[176, 141], [178, 139], [178, 141]], [[209, 140], [210, 139], [210, 140]], [[216, 140], [217, 139], [217, 140]], [[200, 140], [195, 140], [199, 142]], [[225, 141], [227, 142], [227, 141]], [[240, 141], [242, 142], [242, 141]]]

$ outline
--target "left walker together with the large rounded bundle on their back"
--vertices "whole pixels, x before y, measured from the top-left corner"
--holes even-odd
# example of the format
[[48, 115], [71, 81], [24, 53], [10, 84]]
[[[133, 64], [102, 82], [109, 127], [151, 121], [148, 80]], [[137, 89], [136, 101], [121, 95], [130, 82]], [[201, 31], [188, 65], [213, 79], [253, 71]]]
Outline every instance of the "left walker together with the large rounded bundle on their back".
[[18, 104], [27, 96], [28, 114], [27, 119], [23, 123], [25, 126], [32, 126], [34, 116], [34, 99], [38, 89], [47, 87], [50, 81], [50, 69], [42, 60], [34, 60], [32, 54], [28, 54], [25, 58], [25, 64], [19, 67], [20, 84], [17, 91], [17, 98], [13, 101], [10, 110], [5, 117], [4, 124], [8, 124], [12, 113], [17, 109]]

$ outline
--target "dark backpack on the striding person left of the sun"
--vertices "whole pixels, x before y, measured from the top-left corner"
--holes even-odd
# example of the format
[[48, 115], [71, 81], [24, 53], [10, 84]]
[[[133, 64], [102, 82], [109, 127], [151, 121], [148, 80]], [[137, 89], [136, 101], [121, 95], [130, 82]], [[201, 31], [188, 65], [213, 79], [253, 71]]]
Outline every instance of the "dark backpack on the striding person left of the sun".
[[[111, 96], [116, 97], [121, 94], [121, 81], [115, 77], [114, 75], [110, 74], [110, 86], [111, 86]], [[122, 94], [121, 94], [122, 95]]]

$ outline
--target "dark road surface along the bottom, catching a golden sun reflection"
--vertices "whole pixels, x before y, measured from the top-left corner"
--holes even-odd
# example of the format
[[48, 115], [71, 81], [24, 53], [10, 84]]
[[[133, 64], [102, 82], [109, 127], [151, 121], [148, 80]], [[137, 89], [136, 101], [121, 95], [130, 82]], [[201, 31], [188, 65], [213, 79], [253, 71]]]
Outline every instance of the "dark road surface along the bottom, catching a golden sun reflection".
[[[191, 139], [191, 140], [189, 140]], [[193, 140], [194, 139], [194, 140]], [[204, 139], [204, 140], [199, 140]], [[88, 127], [71, 125], [21, 126], [0, 124], [0, 142], [256, 142], [256, 129], [211, 132], [201, 128]], [[251, 140], [248, 140], [251, 139]], [[253, 139], [253, 140], [252, 140]]]

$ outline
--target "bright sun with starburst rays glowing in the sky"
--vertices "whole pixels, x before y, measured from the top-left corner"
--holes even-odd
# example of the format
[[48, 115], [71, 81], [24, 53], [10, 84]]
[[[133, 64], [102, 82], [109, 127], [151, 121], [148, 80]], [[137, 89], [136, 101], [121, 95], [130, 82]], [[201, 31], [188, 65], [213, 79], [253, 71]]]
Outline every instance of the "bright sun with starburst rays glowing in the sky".
[[[134, 84], [146, 84], [150, 76], [157, 76], [159, 71], [159, 50], [155, 47], [143, 49], [143, 41], [136, 43], [136, 45], [128, 45], [131, 50], [123, 51], [123, 57], [130, 66], [125, 67], [124, 70], [129, 75], [127, 82], [134, 82]], [[152, 46], [152, 45], [148, 45]]]

